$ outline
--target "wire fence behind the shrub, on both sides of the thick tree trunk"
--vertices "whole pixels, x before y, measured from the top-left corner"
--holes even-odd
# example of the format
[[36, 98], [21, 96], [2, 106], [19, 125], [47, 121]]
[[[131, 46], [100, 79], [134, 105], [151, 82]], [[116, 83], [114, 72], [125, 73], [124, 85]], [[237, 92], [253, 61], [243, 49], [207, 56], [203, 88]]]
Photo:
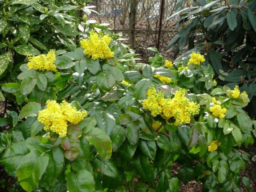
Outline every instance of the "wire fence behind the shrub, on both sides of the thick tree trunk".
[[[137, 3], [136, 20], [135, 28], [131, 29], [129, 14], [133, 1]], [[110, 23], [110, 28], [124, 34], [135, 31], [135, 44], [139, 49], [150, 46], [162, 49], [165, 48], [165, 37], [173, 33], [174, 20], [166, 19], [175, 12], [176, 3], [177, 0], [93, 0], [90, 5], [96, 6], [95, 11], [99, 15], [92, 13], [89, 19]]]

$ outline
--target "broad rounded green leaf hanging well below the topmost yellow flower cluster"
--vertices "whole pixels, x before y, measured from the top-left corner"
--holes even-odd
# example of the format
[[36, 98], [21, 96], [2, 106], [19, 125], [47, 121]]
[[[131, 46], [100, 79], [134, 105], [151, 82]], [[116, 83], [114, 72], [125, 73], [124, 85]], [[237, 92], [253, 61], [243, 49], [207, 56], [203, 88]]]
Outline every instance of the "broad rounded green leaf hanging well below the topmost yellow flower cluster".
[[112, 74], [100, 74], [96, 78], [96, 84], [100, 90], [107, 92], [116, 84], [116, 79]]

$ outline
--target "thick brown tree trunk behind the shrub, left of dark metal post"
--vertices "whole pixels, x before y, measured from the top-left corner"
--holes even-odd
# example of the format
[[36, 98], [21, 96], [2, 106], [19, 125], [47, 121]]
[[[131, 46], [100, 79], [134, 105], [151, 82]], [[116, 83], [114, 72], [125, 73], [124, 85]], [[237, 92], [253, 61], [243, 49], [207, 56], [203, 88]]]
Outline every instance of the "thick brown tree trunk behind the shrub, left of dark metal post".
[[138, 0], [131, 0], [130, 14], [129, 14], [129, 44], [134, 49], [134, 35], [135, 35], [135, 22], [136, 22], [136, 10]]

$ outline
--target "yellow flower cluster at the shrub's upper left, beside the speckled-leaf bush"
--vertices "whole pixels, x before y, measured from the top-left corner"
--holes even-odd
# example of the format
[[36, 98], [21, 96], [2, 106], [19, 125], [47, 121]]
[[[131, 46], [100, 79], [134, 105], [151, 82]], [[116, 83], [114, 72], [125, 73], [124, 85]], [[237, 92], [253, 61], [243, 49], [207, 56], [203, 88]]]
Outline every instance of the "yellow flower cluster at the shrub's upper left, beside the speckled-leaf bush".
[[28, 56], [28, 68], [40, 71], [57, 71], [54, 64], [55, 51], [50, 50], [47, 55]]

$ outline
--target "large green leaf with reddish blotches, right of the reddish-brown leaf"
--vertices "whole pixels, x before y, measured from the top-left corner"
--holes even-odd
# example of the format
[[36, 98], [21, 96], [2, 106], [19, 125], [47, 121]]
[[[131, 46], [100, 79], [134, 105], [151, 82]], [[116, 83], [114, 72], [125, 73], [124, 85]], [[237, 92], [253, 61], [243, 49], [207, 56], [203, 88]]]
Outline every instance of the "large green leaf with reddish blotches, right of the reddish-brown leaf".
[[95, 127], [86, 134], [86, 139], [96, 147], [102, 158], [109, 159], [111, 157], [112, 142], [106, 132]]

